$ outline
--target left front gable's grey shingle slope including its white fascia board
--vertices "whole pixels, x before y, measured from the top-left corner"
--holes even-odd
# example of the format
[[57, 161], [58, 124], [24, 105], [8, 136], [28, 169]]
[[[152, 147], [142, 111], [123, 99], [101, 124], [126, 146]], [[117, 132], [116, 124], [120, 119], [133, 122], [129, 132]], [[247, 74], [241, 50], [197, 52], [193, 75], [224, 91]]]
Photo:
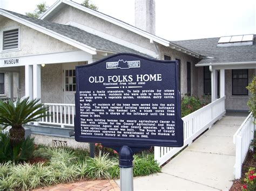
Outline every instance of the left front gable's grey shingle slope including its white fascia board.
[[129, 52], [147, 56], [134, 51], [131, 48], [113, 43], [110, 40], [98, 37], [74, 26], [51, 23], [47, 20], [31, 18], [3, 9], [0, 9], [0, 15], [29, 26], [39, 32], [48, 34], [53, 38], [64, 41], [64, 43], [75, 46], [90, 54], [96, 54], [96, 51], [105, 51], [111, 53]]

